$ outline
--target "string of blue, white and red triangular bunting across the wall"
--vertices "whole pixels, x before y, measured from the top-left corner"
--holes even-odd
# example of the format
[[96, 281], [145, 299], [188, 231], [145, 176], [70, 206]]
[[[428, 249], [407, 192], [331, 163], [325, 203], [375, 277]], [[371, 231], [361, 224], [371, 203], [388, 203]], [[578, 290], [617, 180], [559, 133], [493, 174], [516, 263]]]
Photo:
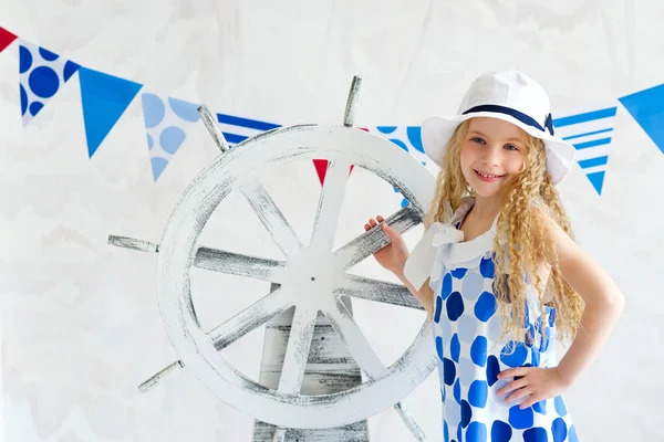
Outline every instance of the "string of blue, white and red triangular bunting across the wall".
[[[87, 155], [92, 158], [142, 91], [143, 84], [82, 66], [0, 28], [0, 52], [14, 41], [19, 42], [19, 88], [23, 126], [34, 119], [77, 73]], [[606, 179], [619, 103], [664, 154], [664, 84], [553, 120], [556, 134], [577, 149], [578, 165], [599, 196], [602, 194]], [[156, 182], [183, 148], [189, 130], [199, 123], [198, 105], [152, 90], [141, 94], [141, 105], [148, 158]], [[217, 120], [231, 147], [247, 138], [281, 127], [280, 124], [221, 113], [217, 114]], [[392, 141], [437, 173], [438, 167], [427, 158], [422, 147], [419, 126], [374, 126], [364, 130]], [[322, 185], [328, 161], [315, 159], [313, 165]], [[394, 188], [394, 191], [397, 192], [397, 189]], [[407, 203], [402, 197], [402, 206]]]

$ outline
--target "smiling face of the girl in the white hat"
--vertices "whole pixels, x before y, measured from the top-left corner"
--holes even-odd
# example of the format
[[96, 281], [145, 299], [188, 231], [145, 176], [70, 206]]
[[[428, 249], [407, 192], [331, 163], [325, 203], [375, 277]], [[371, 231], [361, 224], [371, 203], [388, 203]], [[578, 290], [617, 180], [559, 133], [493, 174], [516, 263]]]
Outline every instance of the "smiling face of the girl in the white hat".
[[460, 151], [461, 171], [475, 192], [497, 196], [523, 166], [528, 134], [497, 118], [471, 118]]

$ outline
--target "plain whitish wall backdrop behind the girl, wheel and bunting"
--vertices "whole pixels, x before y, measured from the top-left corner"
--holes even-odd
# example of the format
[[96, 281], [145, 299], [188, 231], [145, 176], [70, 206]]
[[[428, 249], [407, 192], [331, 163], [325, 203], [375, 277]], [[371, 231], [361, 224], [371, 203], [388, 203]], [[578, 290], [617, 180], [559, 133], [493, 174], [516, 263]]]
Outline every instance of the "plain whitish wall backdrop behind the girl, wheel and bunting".
[[[548, 88], [554, 110], [663, 83], [664, 3], [633, 3], [0, 0], [0, 25], [164, 94], [283, 125], [341, 124], [352, 76], [361, 75], [357, 126], [418, 125], [455, 112], [468, 83], [488, 70], [523, 70]], [[72, 77], [23, 129], [18, 44], [0, 54], [4, 440], [248, 441], [252, 419], [186, 371], [138, 392], [139, 382], [177, 359], [157, 309], [156, 256], [106, 244], [108, 234], [158, 242], [174, 202], [218, 151], [198, 124], [153, 182], [135, 99], [89, 159], [77, 83]], [[626, 298], [608, 346], [567, 392], [582, 441], [664, 440], [662, 169], [664, 155], [619, 106], [602, 196], [579, 167], [560, 187], [579, 242]], [[264, 178], [307, 238], [320, 192], [313, 166]], [[367, 218], [398, 209], [380, 179], [354, 172], [351, 181], [338, 245], [360, 234]], [[230, 198], [207, 243], [278, 257], [251, 217], [246, 202]], [[408, 233], [411, 245], [421, 232]], [[356, 271], [396, 282], [373, 259]], [[203, 324], [214, 326], [269, 284], [199, 273], [194, 290], [208, 307]], [[354, 305], [386, 362], [424, 318]], [[257, 377], [261, 346], [259, 329], [225, 355]], [[405, 404], [429, 440], [440, 440], [435, 373]], [[409, 440], [392, 410], [371, 418], [370, 431], [374, 441]]]

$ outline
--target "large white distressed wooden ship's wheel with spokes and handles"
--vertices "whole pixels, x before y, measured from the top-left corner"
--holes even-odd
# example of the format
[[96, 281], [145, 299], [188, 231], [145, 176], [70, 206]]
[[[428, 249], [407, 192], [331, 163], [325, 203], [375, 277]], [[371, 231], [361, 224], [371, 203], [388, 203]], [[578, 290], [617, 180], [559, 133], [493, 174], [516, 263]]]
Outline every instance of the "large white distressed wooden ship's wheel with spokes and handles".
[[[349, 96], [344, 125], [299, 125], [273, 129], [228, 149], [209, 110], [199, 113], [222, 154], [187, 187], [164, 230], [162, 241], [111, 236], [114, 245], [158, 252], [158, 305], [164, 326], [179, 361], [141, 386], [154, 387], [168, 372], [186, 368], [224, 402], [279, 428], [320, 429], [367, 419], [395, 407], [418, 439], [422, 432], [401, 400], [435, 368], [430, 323], [423, 326], [412, 345], [390, 367], [373, 350], [341, 301], [343, 296], [423, 309], [401, 284], [349, 274], [347, 271], [388, 243], [380, 228], [363, 232], [333, 249], [349, 168], [364, 168], [394, 186], [409, 202], [386, 218], [406, 232], [423, 221], [430, 201], [434, 177], [407, 151], [391, 141], [352, 127], [359, 92], [355, 78]], [[311, 242], [303, 245], [267, 189], [256, 178], [259, 170], [303, 159], [326, 159]], [[269, 260], [198, 243], [201, 230], [219, 203], [239, 190], [270, 232], [286, 261]], [[190, 292], [190, 270], [241, 275], [278, 284], [279, 287], [211, 330], [201, 328]], [[294, 306], [294, 316], [278, 389], [269, 389], [234, 368], [219, 351], [247, 333]], [[355, 359], [366, 381], [336, 393], [300, 393], [317, 316], [321, 312]], [[396, 404], [396, 406], [395, 406]]]

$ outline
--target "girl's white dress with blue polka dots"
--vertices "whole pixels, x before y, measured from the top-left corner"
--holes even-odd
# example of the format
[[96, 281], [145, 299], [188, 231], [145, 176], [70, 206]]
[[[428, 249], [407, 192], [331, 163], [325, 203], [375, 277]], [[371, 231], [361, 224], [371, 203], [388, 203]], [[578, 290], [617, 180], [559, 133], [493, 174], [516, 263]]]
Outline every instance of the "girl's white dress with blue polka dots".
[[[463, 242], [458, 228], [473, 203], [473, 198], [465, 198], [450, 224], [437, 225], [438, 245], [434, 238], [435, 248], [430, 248], [432, 234], [428, 238], [425, 234], [422, 240], [434, 251], [430, 252], [433, 260], [429, 256], [432, 271], [426, 275], [430, 275], [429, 285], [435, 296], [433, 335], [443, 401], [443, 440], [575, 442], [575, 429], [562, 397], [520, 410], [519, 404], [525, 399], [505, 403], [504, 398], [496, 394], [513, 379], [497, 379], [498, 372], [507, 368], [557, 365], [553, 354], [556, 309], [544, 306], [544, 312], [540, 312], [539, 302], [532, 295], [525, 322], [527, 339], [523, 343], [509, 340], [509, 337], [498, 340], [502, 317], [494, 296], [491, 261], [496, 222], [483, 235]], [[415, 260], [409, 263], [413, 280], [418, 280], [413, 266], [423, 264], [423, 249], [419, 244], [418, 248], [419, 251], [413, 251]]]

